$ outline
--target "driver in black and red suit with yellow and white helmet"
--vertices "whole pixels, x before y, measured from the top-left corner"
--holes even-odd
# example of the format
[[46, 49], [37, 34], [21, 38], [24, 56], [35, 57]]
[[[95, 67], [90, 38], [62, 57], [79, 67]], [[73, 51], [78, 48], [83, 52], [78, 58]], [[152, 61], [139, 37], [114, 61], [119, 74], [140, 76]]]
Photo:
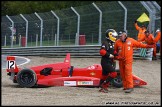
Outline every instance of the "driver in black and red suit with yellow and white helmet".
[[114, 42], [117, 36], [118, 34], [114, 29], [108, 29], [106, 31], [106, 40], [103, 41], [101, 45], [102, 77], [99, 84], [101, 88], [99, 90], [100, 92], [107, 93], [110, 81], [117, 76], [114, 66], [114, 56], [116, 56], [116, 54], [114, 54]]

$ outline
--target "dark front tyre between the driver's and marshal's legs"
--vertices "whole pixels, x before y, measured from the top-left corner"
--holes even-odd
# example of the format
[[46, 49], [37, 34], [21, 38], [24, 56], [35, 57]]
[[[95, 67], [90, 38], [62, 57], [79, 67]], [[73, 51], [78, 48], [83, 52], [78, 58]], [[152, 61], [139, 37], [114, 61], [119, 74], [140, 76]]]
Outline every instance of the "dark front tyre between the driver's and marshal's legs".
[[121, 88], [123, 86], [123, 82], [122, 82], [122, 79], [120, 77], [120, 71], [119, 70], [116, 70], [117, 72], [117, 77], [114, 78], [111, 83], [114, 87], [117, 87], [117, 88]]

